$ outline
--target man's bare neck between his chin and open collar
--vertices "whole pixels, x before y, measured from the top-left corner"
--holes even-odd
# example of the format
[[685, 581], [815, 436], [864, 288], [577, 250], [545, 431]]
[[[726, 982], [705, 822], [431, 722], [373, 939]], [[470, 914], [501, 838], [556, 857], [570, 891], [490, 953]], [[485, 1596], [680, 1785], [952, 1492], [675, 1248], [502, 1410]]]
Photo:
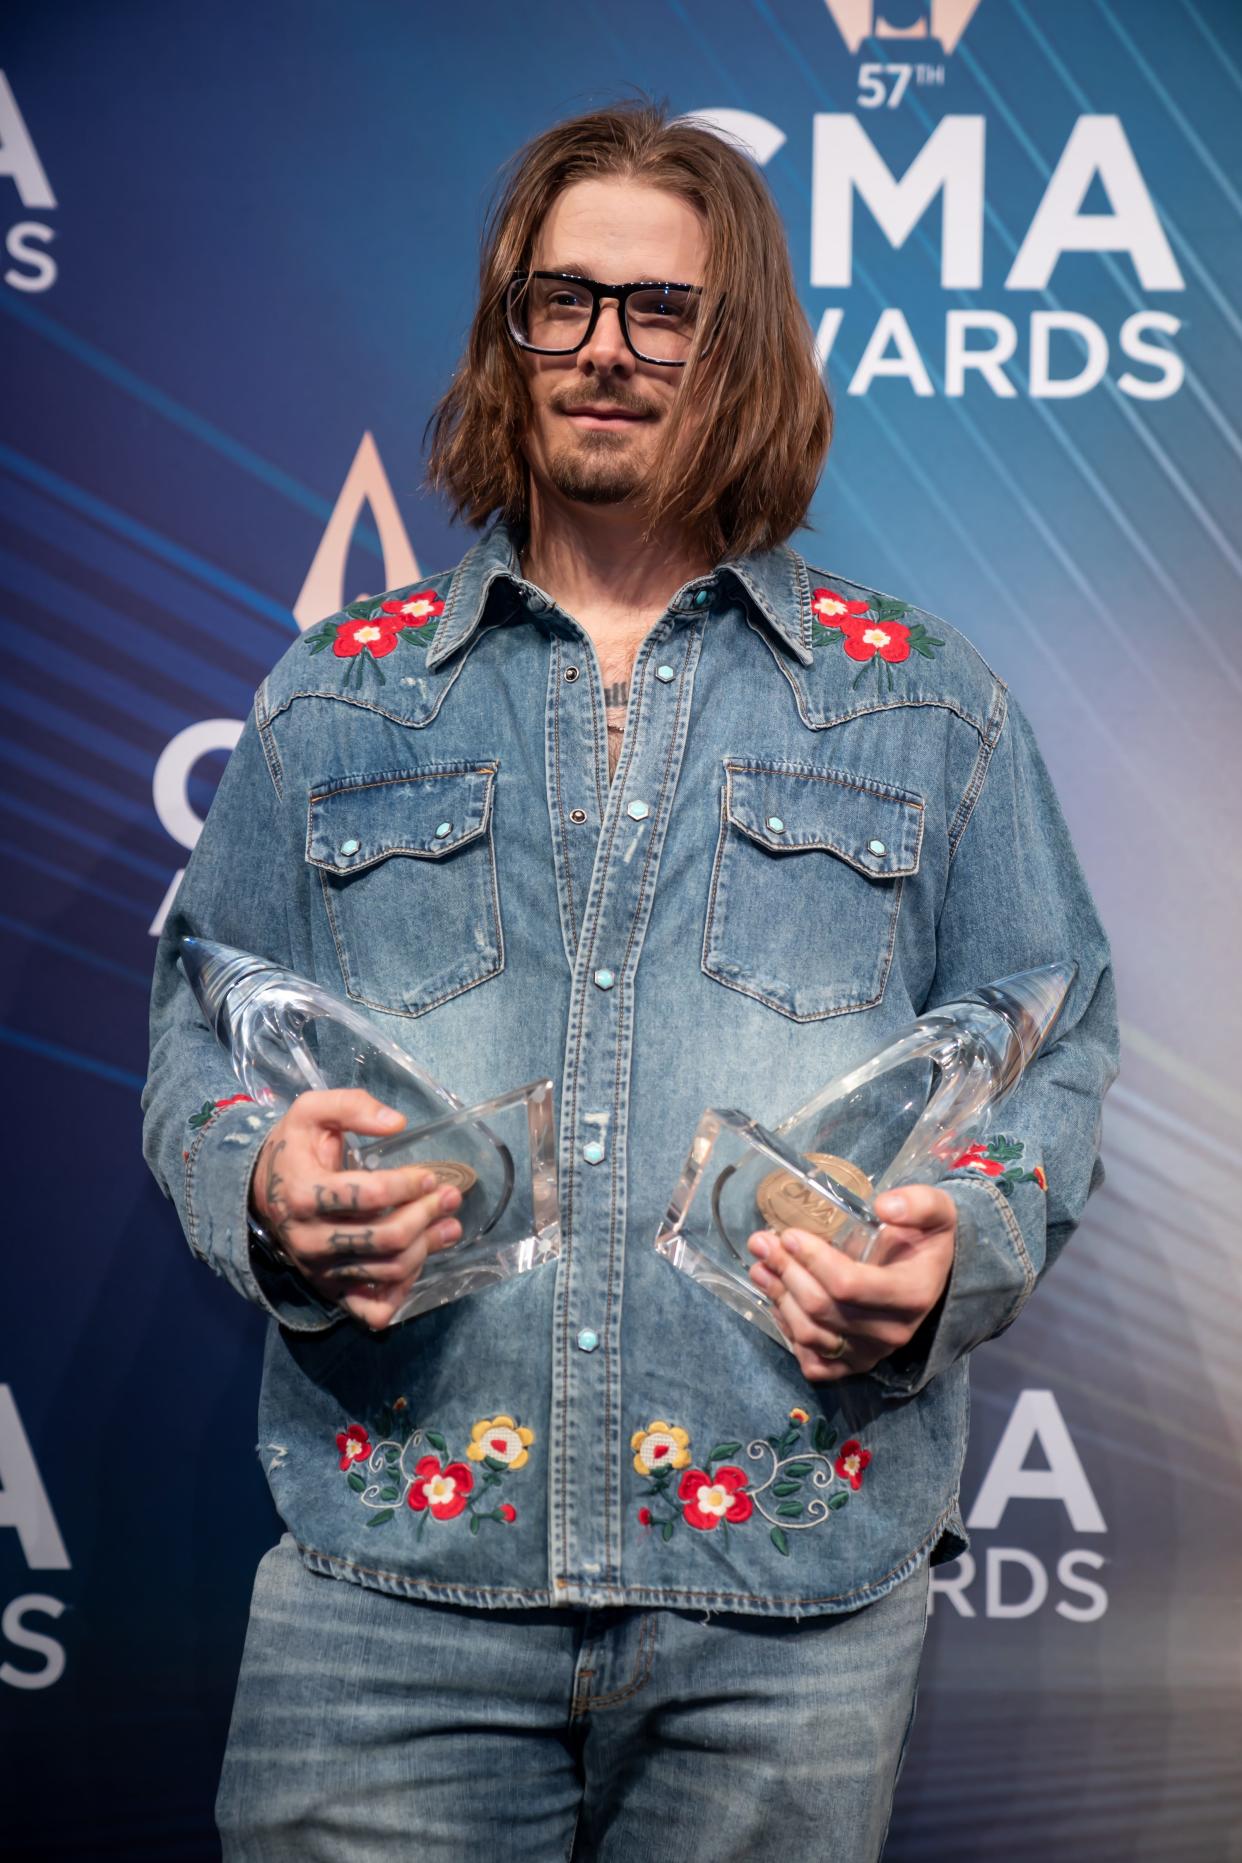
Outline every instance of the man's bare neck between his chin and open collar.
[[646, 633], [682, 583], [711, 568], [683, 533], [644, 540], [624, 507], [592, 509], [540, 496], [536, 486], [531, 492], [523, 574], [596, 641]]

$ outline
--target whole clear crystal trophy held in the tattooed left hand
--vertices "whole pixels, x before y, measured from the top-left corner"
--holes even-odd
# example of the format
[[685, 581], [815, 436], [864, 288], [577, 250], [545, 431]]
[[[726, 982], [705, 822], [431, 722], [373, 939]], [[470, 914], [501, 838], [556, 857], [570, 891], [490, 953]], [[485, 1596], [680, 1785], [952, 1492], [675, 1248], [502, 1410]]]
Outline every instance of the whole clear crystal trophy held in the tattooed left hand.
[[307, 1088], [363, 1088], [406, 1114], [389, 1138], [344, 1133], [344, 1170], [421, 1164], [462, 1192], [462, 1235], [428, 1254], [393, 1325], [560, 1254], [551, 1081], [464, 1107], [361, 1010], [266, 958], [181, 939], [181, 969], [242, 1092], [283, 1112]]

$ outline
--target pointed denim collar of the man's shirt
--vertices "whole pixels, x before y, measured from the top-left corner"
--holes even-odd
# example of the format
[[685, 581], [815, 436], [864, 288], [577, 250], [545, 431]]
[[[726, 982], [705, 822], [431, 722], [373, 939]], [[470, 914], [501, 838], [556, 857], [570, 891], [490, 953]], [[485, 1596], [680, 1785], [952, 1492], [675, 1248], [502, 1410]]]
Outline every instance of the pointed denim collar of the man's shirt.
[[[745, 557], [724, 557], [711, 576], [702, 576], [678, 594], [674, 609], [693, 611], [695, 596], [713, 581], [734, 581], [747, 605], [778, 635], [803, 665], [812, 663], [810, 650], [810, 576], [806, 563], [788, 544], [775, 550], [754, 550]], [[445, 611], [426, 654], [430, 673], [473, 639], [484, 617], [492, 585], [508, 581], [518, 591], [531, 591], [523, 581], [512, 535], [497, 518], [479, 542], [466, 551], [449, 589]]]

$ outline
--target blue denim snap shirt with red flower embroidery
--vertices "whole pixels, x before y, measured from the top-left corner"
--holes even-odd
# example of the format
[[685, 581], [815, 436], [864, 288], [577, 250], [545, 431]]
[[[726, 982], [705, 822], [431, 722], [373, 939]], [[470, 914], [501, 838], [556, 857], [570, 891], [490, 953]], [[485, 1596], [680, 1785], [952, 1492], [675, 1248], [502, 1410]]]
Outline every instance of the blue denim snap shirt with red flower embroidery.
[[[966, 1548], [970, 1351], [1102, 1176], [1108, 943], [1004, 682], [790, 548], [672, 596], [613, 781], [603, 710], [590, 637], [501, 524], [302, 635], [160, 939], [145, 1153], [190, 1248], [270, 1313], [259, 1451], [313, 1569], [482, 1608], [851, 1610]], [[412, 859], [428, 773], [449, 846]], [[182, 932], [346, 993], [466, 1105], [551, 1077], [560, 1259], [380, 1334], [266, 1267], [266, 1120], [175, 971]], [[810, 1384], [655, 1254], [706, 1107], [775, 1123], [925, 1006], [1065, 958], [1056, 1040], [946, 1179], [946, 1293], [875, 1371]]]

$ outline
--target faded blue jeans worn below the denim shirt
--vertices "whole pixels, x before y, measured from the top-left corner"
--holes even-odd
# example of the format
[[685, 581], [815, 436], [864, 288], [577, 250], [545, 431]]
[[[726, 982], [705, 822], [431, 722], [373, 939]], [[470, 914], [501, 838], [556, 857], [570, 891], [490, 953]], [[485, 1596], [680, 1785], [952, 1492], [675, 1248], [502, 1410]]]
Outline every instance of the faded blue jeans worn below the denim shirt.
[[255, 1580], [216, 1816], [227, 1863], [875, 1863], [927, 1565], [857, 1611], [480, 1611]]

